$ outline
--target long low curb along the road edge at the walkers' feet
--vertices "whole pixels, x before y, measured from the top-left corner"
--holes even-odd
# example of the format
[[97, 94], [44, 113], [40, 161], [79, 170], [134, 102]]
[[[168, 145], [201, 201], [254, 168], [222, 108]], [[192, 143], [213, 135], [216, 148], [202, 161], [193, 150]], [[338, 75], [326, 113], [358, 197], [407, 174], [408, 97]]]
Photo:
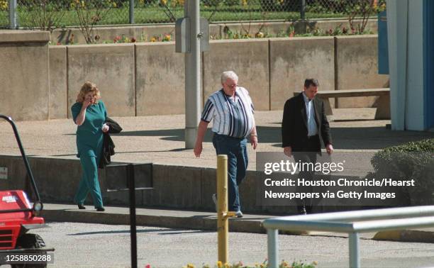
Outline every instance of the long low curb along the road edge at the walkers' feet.
[[[179, 214], [182, 214], [180, 212]], [[97, 223], [129, 225], [129, 213], [111, 213], [96, 211], [78, 211], [77, 209], [48, 209], [42, 211], [40, 216], [45, 220], [55, 222], [74, 222], [74, 223]], [[261, 222], [265, 218], [229, 218], [229, 231], [240, 233], [266, 233]], [[215, 213], [202, 213], [202, 215], [192, 216], [162, 216], [162, 215], [136, 215], [137, 225], [146, 225], [162, 228], [180, 228], [196, 230], [217, 230], [217, 217]], [[316, 231], [283, 231], [282, 235], [311, 235], [311, 236], [333, 236], [347, 238], [344, 233], [324, 233]], [[373, 234], [373, 233], [372, 233]], [[434, 231], [423, 230], [392, 230], [380, 231], [364, 237], [369, 240], [386, 240], [396, 242], [434, 242]]]

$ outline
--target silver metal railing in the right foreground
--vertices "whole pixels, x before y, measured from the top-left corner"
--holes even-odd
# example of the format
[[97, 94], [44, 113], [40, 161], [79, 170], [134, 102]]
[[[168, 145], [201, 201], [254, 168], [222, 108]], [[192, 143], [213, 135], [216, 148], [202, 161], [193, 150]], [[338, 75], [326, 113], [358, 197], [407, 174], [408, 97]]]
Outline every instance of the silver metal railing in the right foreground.
[[262, 225], [267, 229], [268, 267], [279, 267], [279, 230], [316, 230], [334, 233], [348, 233], [350, 267], [359, 268], [360, 233], [434, 226], [434, 206], [380, 208], [365, 211], [285, 216], [269, 218], [262, 221]]

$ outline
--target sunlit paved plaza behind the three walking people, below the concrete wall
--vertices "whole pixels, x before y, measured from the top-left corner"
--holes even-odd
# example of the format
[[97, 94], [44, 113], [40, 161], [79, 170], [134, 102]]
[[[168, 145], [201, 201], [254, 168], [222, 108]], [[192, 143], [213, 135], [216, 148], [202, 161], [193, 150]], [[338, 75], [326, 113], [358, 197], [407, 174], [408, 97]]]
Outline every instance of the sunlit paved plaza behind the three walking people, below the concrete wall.
[[[374, 121], [375, 108], [340, 108], [334, 111], [331, 122], [335, 152], [369, 153], [390, 145], [434, 138], [434, 133], [420, 131], [391, 131], [385, 128], [390, 121]], [[282, 152], [282, 111], [255, 113], [259, 145], [257, 152]], [[204, 152], [198, 159], [193, 150], [184, 147], [184, 115], [114, 117], [123, 132], [113, 135], [118, 162], [154, 162], [194, 167], [216, 167], [216, 155], [211, 143], [211, 130], [205, 138]], [[75, 158], [76, 126], [71, 119], [16, 122], [28, 155]], [[0, 121], [0, 155], [19, 155], [11, 127]], [[249, 169], [255, 169], [256, 155], [248, 147]], [[355, 163], [360, 164], [360, 161]]]

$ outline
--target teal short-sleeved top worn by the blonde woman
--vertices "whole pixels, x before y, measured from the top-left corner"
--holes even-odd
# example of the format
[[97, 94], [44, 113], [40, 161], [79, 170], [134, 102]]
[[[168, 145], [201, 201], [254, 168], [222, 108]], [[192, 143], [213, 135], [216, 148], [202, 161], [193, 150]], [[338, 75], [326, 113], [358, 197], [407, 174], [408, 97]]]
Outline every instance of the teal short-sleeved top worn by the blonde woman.
[[[82, 110], [82, 103], [76, 102], [71, 107], [72, 119], [75, 119]], [[106, 121], [107, 111], [104, 102], [87, 106], [84, 123], [77, 126], [77, 150], [78, 156], [87, 155], [99, 158], [103, 145], [102, 125]]]

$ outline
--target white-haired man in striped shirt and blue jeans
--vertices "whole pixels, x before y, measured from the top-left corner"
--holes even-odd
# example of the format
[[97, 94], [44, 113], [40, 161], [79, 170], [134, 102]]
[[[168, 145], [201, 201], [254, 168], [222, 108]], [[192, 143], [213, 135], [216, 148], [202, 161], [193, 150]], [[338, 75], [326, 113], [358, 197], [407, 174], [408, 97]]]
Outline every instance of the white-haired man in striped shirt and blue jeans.
[[238, 76], [228, 71], [221, 74], [223, 89], [209, 96], [202, 111], [194, 146], [194, 155], [200, 157], [208, 123], [213, 120], [213, 145], [217, 155], [228, 155], [228, 209], [243, 217], [238, 185], [247, 170], [247, 136], [253, 149], [257, 146], [254, 107], [249, 92], [238, 86]]

